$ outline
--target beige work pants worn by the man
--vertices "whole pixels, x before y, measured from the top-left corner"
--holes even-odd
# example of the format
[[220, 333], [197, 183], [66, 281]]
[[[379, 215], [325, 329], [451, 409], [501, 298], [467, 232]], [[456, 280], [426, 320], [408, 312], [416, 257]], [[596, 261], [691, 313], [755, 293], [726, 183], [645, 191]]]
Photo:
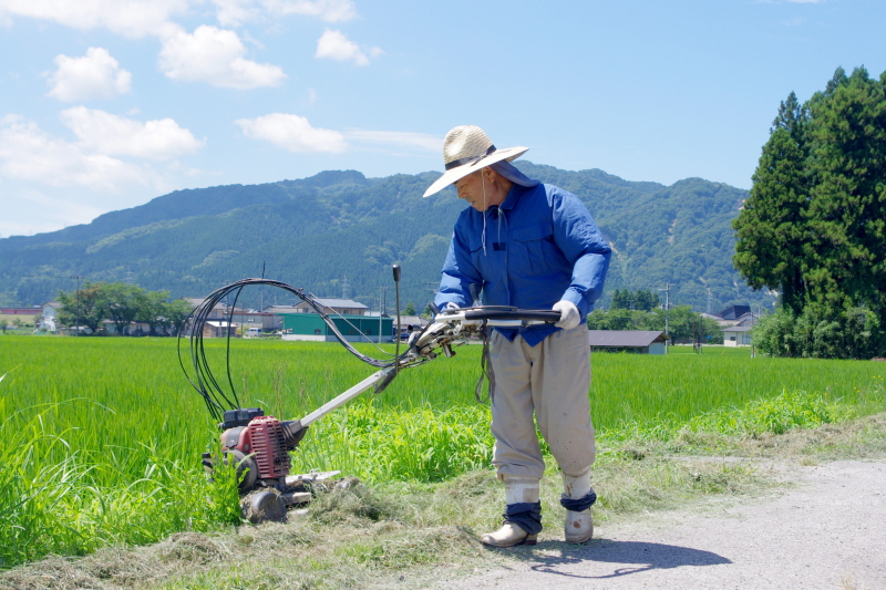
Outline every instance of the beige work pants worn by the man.
[[533, 413], [560, 469], [585, 473], [595, 457], [587, 325], [555, 332], [535, 346], [519, 335], [511, 342], [493, 332], [490, 359], [495, 374], [492, 462], [498, 476], [544, 475]]

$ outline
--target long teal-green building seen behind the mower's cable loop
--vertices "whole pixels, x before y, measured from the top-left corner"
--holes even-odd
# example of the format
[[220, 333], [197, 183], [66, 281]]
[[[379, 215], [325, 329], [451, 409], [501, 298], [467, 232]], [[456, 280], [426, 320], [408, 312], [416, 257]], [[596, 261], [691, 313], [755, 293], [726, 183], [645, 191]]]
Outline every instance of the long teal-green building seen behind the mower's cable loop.
[[[331, 320], [349, 342], [378, 342], [379, 328], [381, 328], [382, 341], [393, 340], [393, 318], [333, 315]], [[332, 330], [317, 313], [284, 313], [282, 332], [284, 340], [338, 341]], [[361, 335], [360, 332], [364, 335]]]

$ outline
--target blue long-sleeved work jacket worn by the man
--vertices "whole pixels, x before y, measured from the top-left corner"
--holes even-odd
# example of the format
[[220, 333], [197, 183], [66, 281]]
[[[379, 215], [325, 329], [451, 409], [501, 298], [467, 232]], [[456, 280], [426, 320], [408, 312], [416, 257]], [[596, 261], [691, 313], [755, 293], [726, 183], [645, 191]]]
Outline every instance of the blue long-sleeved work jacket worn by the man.
[[[434, 303], [468, 307], [472, 292], [481, 291], [485, 306], [518, 309], [550, 309], [565, 299], [584, 321], [602, 293], [610, 256], [578, 197], [552, 185], [515, 184], [498, 207], [468, 206], [459, 216]], [[559, 328], [496, 330], [509, 340], [519, 333], [534, 346]]]

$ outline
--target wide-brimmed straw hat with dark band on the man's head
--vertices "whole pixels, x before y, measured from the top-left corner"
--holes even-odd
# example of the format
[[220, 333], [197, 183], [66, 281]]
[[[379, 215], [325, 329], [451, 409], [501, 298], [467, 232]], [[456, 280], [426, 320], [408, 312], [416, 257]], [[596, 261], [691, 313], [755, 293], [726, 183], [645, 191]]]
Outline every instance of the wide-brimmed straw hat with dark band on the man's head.
[[430, 197], [472, 172], [496, 162], [517, 159], [528, 149], [528, 147], [496, 149], [486, 132], [476, 125], [455, 127], [443, 139], [443, 163], [446, 172], [424, 192], [424, 196]]

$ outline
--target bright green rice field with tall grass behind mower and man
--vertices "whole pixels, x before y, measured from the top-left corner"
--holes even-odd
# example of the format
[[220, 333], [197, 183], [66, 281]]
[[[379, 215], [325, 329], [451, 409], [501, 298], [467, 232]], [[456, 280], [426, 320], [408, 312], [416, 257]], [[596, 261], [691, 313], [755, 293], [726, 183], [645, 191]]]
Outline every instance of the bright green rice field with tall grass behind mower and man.
[[[207, 346], [226, 380], [225, 342]], [[295, 469], [435, 482], [488, 468], [488, 410], [473, 400], [480, 348], [457, 351], [318, 422]], [[602, 438], [687, 425], [751, 432], [766, 420], [802, 426], [835, 420], [837, 400], [882, 407], [879, 363], [674, 352], [594, 355]], [[241, 405], [281, 418], [303, 416], [373, 372], [337, 344], [234, 341], [231, 361]], [[0, 338], [0, 567], [236, 521], [230, 483], [210, 485], [199, 467], [218, 431], [182, 374], [174, 340]]]

